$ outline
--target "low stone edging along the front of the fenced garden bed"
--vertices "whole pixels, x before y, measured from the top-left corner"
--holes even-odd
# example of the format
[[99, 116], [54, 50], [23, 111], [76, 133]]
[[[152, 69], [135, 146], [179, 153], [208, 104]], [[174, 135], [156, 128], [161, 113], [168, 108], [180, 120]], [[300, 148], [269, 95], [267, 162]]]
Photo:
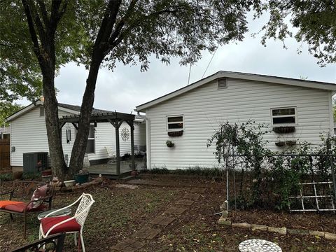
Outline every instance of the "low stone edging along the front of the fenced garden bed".
[[223, 216], [219, 218], [218, 224], [229, 225], [232, 228], [246, 228], [251, 229], [252, 231], [266, 231], [266, 232], [275, 232], [280, 235], [311, 235], [324, 237], [325, 239], [336, 241], [336, 234], [330, 232], [321, 232], [316, 230], [299, 230], [299, 229], [291, 229], [291, 228], [275, 228], [269, 227], [267, 225], [257, 225], [257, 224], [249, 224], [249, 223], [232, 223], [228, 220], [228, 211], [223, 211]]

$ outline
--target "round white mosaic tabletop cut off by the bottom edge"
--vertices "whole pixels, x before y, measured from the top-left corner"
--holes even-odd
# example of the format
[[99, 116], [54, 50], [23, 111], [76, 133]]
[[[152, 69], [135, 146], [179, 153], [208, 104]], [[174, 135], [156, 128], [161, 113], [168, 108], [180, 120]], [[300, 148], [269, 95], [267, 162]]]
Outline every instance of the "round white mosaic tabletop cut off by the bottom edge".
[[238, 248], [240, 252], [282, 252], [277, 244], [263, 239], [242, 241]]

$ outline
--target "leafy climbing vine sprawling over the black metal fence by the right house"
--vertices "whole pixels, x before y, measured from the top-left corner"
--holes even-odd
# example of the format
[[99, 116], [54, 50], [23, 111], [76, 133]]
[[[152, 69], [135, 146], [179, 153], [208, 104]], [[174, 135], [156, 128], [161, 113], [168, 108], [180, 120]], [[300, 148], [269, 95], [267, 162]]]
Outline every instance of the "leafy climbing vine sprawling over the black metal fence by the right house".
[[235, 169], [239, 177], [239, 194], [230, 204], [237, 203], [241, 209], [288, 209], [289, 197], [298, 195], [299, 183], [330, 180], [330, 162], [336, 163], [336, 137], [322, 138], [321, 146], [303, 142], [273, 153], [262, 138], [267, 132], [265, 125], [251, 120], [241, 125], [223, 123], [208, 140], [208, 147], [216, 145], [218, 162]]

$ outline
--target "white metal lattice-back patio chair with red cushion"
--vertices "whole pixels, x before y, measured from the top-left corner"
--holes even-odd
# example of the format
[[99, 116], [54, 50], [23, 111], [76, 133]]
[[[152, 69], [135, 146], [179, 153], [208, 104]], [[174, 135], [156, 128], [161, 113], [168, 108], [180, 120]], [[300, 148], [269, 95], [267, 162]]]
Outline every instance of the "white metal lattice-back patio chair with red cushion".
[[[57, 217], [48, 217], [52, 214], [55, 215], [57, 211], [72, 207], [73, 205], [78, 204], [76, 213], [74, 216], [57, 216]], [[85, 252], [84, 239], [83, 239], [83, 227], [87, 214], [89, 214], [90, 208], [94, 200], [92, 195], [88, 193], [83, 193], [76, 202], [73, 202], [69, 206], [63, 207], [62, 209], [57, 209], [52, 211], [50, 214], [47, 214], [45, 218], [41, 219], [39, 237], [48, 237], [48, 235], [54, 235], [60, 232], [66, 232], [66, 234], [75, 235], [75, 245], [77, 246], [76, 234], [79, 234], [80, 244], [82, 245], [83, 252]], [[79, 246], [79, 245], [78, 245]]]

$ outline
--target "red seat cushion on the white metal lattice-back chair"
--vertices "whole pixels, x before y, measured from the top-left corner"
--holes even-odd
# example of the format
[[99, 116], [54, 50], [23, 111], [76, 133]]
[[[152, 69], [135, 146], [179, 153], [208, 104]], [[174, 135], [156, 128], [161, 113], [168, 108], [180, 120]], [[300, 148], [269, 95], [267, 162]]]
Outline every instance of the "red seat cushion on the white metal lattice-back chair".
[[[58, 217], [46, 217], [41, 219], [42, 224], [42, 230], [43, 233], [46, 234], [50, 228], [52, 228], [53, 225], [60, 223], [61, 221], [67, 220], [71, 218], [70, 216], [58, 216]], [[53, 230], [50, 231], [49, 235], [54, 235], [59, 232], [79, 232], [80, 231], [80, 225], [76, 221], [76, 219], [72, 219], [71, 221], [67, 221], [66, 223], [63, 223]]]

